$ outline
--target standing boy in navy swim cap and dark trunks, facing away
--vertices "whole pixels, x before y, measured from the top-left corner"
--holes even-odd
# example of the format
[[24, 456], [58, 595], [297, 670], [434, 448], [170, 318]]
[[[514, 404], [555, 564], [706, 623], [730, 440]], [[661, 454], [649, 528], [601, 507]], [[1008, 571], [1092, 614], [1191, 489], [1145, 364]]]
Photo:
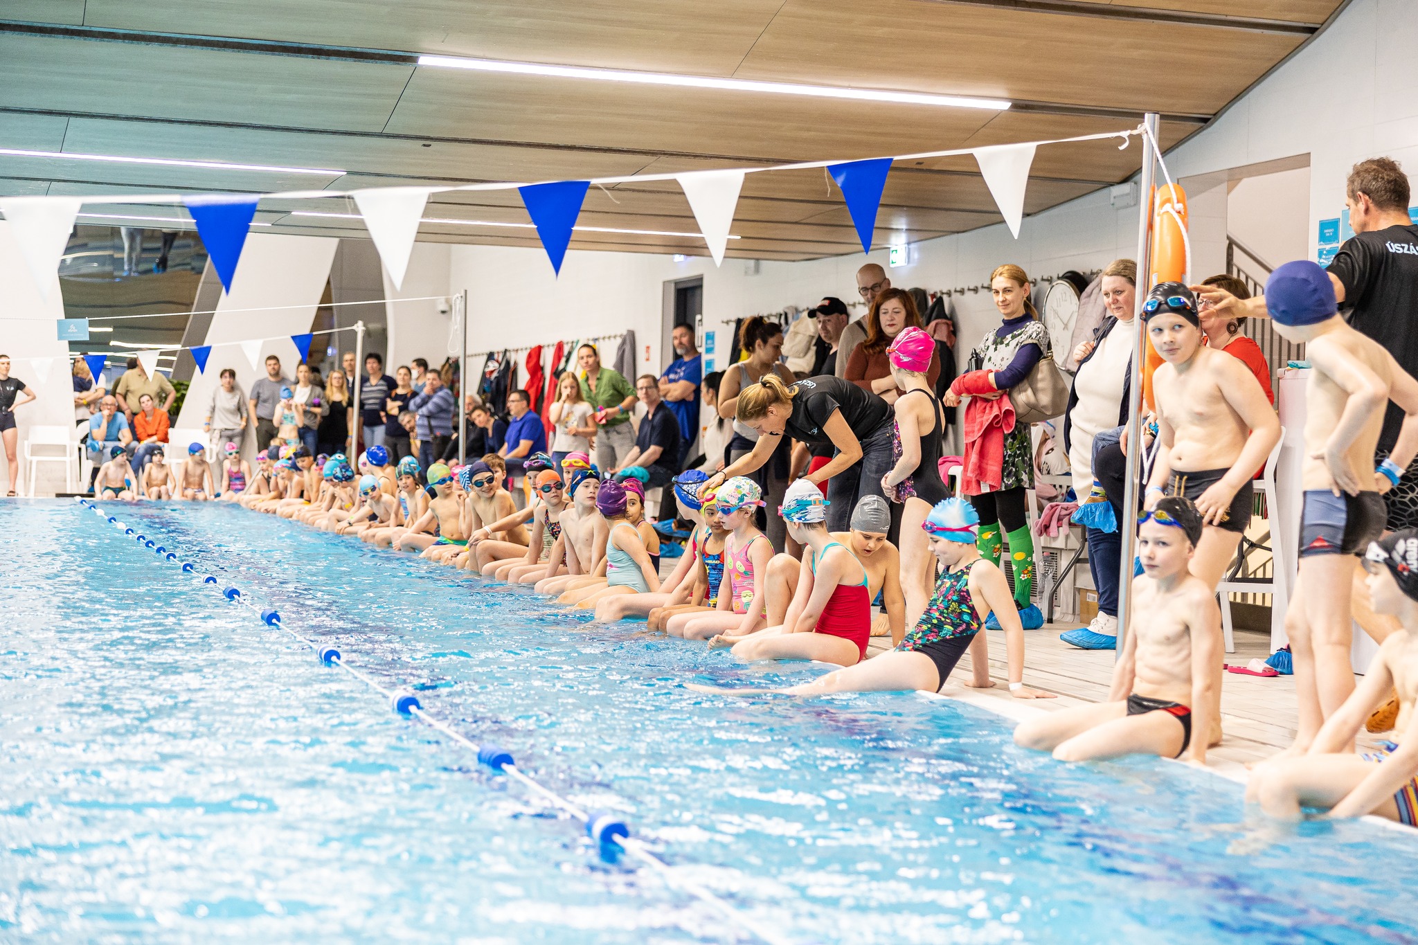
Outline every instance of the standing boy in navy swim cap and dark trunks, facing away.
[[[1265, 303], [1275, 330], [1303, 343], [1310, 361], [1299, 574], [1285, 612], [1299, 697], [1292, 751], [1303, 752], [1354, 691], [1349, 653], [1358, 555], [1384, 530], [1383, 494], [1418, 453], [1418, 384], [1381, 344], [1339, 316], [1334, 286], [1319, 265], [1299, 261], [1276, 268]], [[1404, 424], [1392, 455], [1373, 469], [1390, 400], [1402, 408]], [[1381, 621], [1367, 623], [1370, 632], [1388, 629]], [[1381, 638], [1383, 629], [1375, 639]]]

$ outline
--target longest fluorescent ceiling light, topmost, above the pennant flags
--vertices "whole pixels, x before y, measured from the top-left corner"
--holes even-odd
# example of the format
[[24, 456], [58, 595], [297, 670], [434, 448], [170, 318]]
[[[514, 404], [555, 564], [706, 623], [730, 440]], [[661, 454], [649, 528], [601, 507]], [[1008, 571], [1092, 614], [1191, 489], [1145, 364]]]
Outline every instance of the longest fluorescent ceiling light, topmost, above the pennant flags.
[[984, 108], [1001, 112], [1010, 108], [1007, 99], [966, 98], [960, 95], [930, 95], [927, 92], [892, 92], [888, 89], [849, 89], [834, 85], [795, 85], [791, 82], [756, 82], [752, 79], [720, 79], [708, 75], [674, 75], [669, 72], [628, 72], [624, 69], [591, 69], [577, 65], [543, 65], [540, 62], [506, 62], [502, 60], [469, 60], [451, 55], [421, 55], [418, 65], [445, 69], [474, 69], [478, 72], [512, 72], [516, 75], [550, 75], [563, 79], [593, 79], [597, 82], [632, 82], [638, 85], [678, 85], [681, 88], [723, 89], [730, 92], [771, 92], [776, 95], [808, 95], [839, 98], [858, 102], [903, 102], [906, 105], [944, 105], [950, 108]]

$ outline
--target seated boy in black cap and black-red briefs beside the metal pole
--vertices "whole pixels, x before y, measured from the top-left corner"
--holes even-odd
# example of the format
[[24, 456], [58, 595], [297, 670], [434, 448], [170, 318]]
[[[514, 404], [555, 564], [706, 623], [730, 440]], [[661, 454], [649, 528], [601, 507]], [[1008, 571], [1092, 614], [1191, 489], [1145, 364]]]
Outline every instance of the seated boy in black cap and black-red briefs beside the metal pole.
[[[1255, 383], [1249, 371], [1246, 377]], [[1143, 514], [1143, 574], [1133, 578], [1134, 616], [1107, 700], [1021, 723], [1017, 745], [1052, 751], [1059, 761], [1185, 755], [1207, 762], [1202, 732], [1211, 731], [1222, 647], [1215, 594], [1190, 570], [1202, 527], [1201, 513], [1180, 496], [1160, 499]]]

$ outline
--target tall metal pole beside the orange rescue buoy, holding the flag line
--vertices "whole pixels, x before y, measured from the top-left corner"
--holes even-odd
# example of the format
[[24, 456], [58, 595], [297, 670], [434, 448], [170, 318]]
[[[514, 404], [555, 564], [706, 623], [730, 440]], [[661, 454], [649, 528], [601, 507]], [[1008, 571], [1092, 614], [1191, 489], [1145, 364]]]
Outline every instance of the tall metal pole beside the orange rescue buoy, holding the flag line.
[[1141, 317], [1143, 300], [1151, 290], [1149, 255], [1151, 252], [1153, 166], [1157, 159], [1151, 143], [1157, 139], [1157, 113], [1149, 112], [1143, 122], [1151, 136], [1143, 136], [1143, 173], [1137, 194], [1137, 303], [1133, 306], [1133, 319], [1137, 323], [1137, 347], [1133, 351], [1133, 378], [1127, 405], [1127, 479], [1123, 489], [1123, 520], [1119, 523], [1123, 531], [1123, 554], [1117, 577], [1117, 650], [1113, 655], [1115, 660], [1122, 656], [1127, 629], [1132, 625], [1133, 538], [1137, 534], [1137, 487], [1143, 455], [1143, 364], [1147, 358], [1149, 341]]

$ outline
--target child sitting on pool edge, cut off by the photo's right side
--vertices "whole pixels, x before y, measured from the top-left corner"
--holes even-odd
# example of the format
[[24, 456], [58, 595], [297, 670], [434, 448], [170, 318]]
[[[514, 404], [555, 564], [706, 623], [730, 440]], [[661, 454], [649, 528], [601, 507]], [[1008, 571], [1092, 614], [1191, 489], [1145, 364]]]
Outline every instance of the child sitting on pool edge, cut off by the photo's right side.
[[[1265, 295], [1269, 303], [1269, 286]], [[1327, 817], [1374, 813], [1418, 826], [1418, 528], [1370, 543], [1364, 564], [1374, 611], [1398, 618], [1402, 629], [1384, 639], [1358, 689], [1330, 713], [1305, 754], [1251, 771], [1246, 800], [1272, 817], [1299, 820], [1300, 808], [1329, 808]], [[1356, 755], [1354, 735], [1394, 690], [1401, 741]]]

